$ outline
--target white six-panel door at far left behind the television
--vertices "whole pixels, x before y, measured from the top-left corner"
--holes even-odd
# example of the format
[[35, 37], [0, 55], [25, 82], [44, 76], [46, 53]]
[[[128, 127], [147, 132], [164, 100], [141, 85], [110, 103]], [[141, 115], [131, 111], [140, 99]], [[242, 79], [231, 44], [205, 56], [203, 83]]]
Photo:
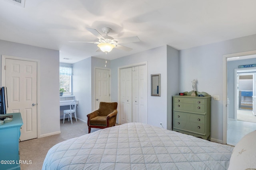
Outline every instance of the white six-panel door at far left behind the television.
[[20, 140], [37, 138], [37, 63], [5, 60], [8, 113], [20, 112], [23, 125]]

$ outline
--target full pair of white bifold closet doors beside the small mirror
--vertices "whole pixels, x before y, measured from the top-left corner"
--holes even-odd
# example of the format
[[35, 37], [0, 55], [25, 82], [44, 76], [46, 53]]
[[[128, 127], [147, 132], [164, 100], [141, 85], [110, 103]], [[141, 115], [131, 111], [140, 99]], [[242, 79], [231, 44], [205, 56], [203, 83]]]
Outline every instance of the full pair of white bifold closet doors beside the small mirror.
[[148, 123], [146, 65], [120, 70], [120, 123]]

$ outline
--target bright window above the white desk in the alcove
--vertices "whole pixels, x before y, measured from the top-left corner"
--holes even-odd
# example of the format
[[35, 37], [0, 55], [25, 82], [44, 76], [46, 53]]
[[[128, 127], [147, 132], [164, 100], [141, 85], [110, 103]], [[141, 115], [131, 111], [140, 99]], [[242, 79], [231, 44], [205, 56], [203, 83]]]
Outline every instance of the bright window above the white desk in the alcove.
[[72, 67], [60, 66], [60, 88], [64, 88], [64, 95], [72, 95]]

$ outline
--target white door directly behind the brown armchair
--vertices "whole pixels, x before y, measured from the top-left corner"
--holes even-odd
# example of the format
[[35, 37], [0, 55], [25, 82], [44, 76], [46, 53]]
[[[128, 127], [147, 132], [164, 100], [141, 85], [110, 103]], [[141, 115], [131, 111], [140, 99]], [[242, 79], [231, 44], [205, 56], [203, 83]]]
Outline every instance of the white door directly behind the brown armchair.
[[110, 102], [110, 74], [109, 70], [95, 69], [95, 110], [100, 102]]

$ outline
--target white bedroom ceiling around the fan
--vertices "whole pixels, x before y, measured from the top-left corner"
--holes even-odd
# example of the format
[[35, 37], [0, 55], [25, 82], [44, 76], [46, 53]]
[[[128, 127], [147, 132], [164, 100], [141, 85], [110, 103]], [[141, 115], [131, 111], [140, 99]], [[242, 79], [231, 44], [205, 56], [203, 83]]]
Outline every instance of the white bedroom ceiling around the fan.
[[[256, 0], [26, 0], [24, 8], [0, 1], [0, 39], [60, 51], [60, 62], [87, 57], [116, 59], [170, 45], [187, 49], [256, 34]], [[95, 52], [86, 30], [110, 27], [132, 51]], [[64, 60], [70, 58], [71, 60]]]

